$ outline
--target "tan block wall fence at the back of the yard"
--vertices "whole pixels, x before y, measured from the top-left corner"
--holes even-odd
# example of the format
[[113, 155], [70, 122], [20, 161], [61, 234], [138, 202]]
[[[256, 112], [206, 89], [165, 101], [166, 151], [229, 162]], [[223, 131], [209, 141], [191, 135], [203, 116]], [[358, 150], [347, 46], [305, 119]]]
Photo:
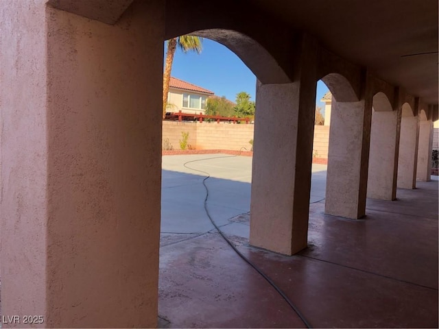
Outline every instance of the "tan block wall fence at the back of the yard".
[[[175, 122], [163, 121], [163, 149], [180, 149], [182, 132], [189, 132], [188, 143], [193, 149], [227, 149], [239, 151], [251, 149], [254, 125], [216, 122]], [[285, 141], [279, 141], [285, 143]], [[329, 126], [314, 127], [313, 155], [315, 158], [328, 158]]]

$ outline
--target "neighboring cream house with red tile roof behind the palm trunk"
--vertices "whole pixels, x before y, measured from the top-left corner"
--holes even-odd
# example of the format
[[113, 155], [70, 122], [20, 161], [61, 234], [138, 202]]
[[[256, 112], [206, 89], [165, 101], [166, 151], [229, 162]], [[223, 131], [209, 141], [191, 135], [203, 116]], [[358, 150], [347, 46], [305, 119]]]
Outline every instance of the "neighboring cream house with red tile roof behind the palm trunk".
[[169, 108], [167, 112], [182, 111], [189, 114], [200, 114], [206, 110], [207, 97], [213, 95], [211, 90], [189, 84], [183, 80], [171, 77], [167, 96]]

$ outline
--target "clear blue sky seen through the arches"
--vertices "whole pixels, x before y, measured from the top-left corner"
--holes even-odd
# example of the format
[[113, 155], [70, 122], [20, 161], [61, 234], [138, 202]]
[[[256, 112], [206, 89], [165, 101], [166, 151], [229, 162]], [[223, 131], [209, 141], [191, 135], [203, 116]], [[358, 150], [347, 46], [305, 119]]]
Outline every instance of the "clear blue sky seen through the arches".
[[[166, 56], [166, 47], [165, 47]], [[171, 75], [178, 79], [212, 90], [217, 96], [226, 96], [235, 101], [235, 96], [246, 91], [254, 100], [256, 77], [238, 56], [227, 47], [204, 38], [203, 50], [197, 53], [182, 53], [177, 49]], [[318, 106], [324, 108], [320, 99], [328, 91], [327, 86], [318, 82]]]

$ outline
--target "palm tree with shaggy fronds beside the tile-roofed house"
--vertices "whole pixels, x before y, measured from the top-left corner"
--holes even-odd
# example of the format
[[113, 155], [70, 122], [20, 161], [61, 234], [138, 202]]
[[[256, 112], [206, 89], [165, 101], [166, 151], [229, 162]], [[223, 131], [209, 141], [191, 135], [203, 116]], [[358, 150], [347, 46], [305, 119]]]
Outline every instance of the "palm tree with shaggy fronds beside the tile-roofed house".
[[169, 81], [171, 80], [172, 62], [174, 61], [174, 54], [178, 46], [184, 53], [188, 51], [195, 51], [201, 53], [202, 40], [198, 36], [177, 36], [167, 40], [167, 52], [165, 60], [165, 71], [163, 72], [163, 119], [166, 116], [167, 108], [167, 93], [169, 92]]

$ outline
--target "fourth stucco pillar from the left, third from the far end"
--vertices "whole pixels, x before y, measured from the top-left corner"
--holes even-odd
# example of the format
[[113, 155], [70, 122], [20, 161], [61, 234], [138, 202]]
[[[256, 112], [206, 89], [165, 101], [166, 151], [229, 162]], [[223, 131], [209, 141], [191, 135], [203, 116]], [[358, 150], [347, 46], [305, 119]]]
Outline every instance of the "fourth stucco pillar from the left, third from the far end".
[[373, 199], [396, 199], [398, 118], [396, 110], [372, 111], [367, 196]]

